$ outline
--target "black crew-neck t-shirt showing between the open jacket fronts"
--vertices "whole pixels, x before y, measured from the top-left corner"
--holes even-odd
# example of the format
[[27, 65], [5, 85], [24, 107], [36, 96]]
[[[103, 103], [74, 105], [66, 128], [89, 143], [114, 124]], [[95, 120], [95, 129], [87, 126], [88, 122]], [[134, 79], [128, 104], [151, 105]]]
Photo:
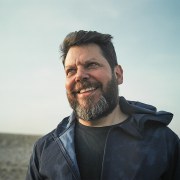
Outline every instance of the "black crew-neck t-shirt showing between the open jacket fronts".
[[82, 180], [100, 179], [105, 141], [111, 127], [88, 127], [76, 123], [75, 150]]

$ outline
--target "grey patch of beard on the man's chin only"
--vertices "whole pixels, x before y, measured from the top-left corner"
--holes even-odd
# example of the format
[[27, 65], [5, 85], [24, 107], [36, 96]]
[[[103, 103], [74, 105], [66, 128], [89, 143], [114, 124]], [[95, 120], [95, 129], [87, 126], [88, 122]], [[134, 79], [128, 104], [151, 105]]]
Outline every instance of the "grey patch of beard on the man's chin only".
[[86, 108], [85, 106], [82, 107], [78, 104], [75, 108], [75, 113], [80, 119], [87, 121], [93, 121], [103, 117], [103, 113], [109, 108], [109, 105], [103, 96], [100, 97], [100, 100], [96, 105], [94, 105], [92, 99], [86, 100], [86, 103], [88, 104], [88, 107], [91, 108]]

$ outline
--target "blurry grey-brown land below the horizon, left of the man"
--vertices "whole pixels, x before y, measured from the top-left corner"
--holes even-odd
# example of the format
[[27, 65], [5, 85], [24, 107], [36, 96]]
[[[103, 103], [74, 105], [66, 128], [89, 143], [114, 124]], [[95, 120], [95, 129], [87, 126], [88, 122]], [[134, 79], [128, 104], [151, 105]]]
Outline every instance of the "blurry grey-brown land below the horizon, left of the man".
[[0, 133], [0, 180], [24, 180], [33, 144], [40, 136]]

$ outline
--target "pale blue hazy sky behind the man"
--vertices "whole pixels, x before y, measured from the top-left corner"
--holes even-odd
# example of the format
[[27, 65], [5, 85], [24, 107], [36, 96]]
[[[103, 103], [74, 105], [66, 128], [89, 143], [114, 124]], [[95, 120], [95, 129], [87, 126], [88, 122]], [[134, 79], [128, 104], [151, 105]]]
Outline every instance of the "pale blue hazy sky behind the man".
[[46, 134], [72, 112], [59, 45], [76, 30], [113, 36], [120, 95], [172, 112], [180, 136], [179, 0], [0, 0], [0, 132]]

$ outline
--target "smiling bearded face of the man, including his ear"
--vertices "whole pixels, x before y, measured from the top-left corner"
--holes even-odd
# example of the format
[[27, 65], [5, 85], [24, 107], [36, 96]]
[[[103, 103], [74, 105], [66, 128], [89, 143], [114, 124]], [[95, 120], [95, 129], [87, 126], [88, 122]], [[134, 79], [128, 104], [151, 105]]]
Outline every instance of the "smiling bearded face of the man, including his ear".
[[71, 47], [65, 59], [67, 98], [78, 118], [97, 120], [118, 103], [122, 69], [113, 72], [96, 44]]

